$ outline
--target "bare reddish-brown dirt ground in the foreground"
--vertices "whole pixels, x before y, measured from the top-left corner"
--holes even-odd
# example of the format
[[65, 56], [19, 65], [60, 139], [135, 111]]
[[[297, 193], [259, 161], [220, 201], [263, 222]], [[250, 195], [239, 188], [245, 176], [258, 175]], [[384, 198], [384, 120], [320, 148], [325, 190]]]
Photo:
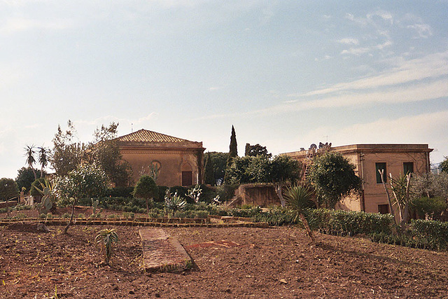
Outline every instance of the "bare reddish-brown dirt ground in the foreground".
[[0, 298], [448, 298], [446, 252], [319, 234], [310, 246], [293, 227], [164, 228], [195, 266], [146, 273], [138, 227], [116, 227], [111, 267], [94, 243], [104, 226], [49, 228], [0, 228]]

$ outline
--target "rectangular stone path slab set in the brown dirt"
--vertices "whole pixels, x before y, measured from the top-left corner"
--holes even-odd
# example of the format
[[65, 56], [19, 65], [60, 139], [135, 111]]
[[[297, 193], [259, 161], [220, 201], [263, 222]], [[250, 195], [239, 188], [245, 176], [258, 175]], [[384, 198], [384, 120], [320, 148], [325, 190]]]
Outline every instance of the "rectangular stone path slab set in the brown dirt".
[[162, 228], [141, 228], [143, 267], [147, 271], [181, 271], [193, 265], [181, 243]]

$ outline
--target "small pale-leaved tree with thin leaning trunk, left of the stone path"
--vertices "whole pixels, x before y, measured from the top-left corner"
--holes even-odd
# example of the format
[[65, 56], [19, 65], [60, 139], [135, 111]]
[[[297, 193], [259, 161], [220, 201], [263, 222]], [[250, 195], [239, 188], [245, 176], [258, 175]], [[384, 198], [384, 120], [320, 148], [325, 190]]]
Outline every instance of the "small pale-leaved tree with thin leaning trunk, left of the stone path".
[[58, 176], [55, 179], [55, 190], [62, 203], [71, 202], [71, 217], [64, 229], [69, 230], [73, 221], [76, 202], [84, 197], [99, 197], [108, 186], [107, 176], [101, 167], [86, 164], [79, 169], [72, 170], [66, 176]]

